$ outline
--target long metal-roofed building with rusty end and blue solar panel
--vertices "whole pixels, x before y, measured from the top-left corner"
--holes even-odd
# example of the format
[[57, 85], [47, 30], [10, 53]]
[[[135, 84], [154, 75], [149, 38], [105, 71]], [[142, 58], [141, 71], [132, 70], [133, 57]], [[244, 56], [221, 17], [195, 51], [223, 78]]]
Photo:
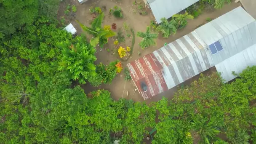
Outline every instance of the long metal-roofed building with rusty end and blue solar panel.
[[[256, 65], [256, 21], [241, 7], [127, 64], [144, 100], [214, 66], [229, 81], [235, 78], [232, 71], [252, 65]], [[146, 83], [146, 92], [141, 83]]]

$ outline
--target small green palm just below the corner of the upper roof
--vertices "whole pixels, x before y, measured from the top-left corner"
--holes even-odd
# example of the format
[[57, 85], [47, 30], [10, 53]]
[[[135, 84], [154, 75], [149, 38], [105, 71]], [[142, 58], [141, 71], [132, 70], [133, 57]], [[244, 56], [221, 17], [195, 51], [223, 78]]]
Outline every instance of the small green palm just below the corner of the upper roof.
[[157, 31], [161, 32], [164, 38], [168, 38], [171, 34], [176, 34], [176, 21], [167, 21], [165, 18], [162, 18], [161, 21], [162, 23], [157, 27]]

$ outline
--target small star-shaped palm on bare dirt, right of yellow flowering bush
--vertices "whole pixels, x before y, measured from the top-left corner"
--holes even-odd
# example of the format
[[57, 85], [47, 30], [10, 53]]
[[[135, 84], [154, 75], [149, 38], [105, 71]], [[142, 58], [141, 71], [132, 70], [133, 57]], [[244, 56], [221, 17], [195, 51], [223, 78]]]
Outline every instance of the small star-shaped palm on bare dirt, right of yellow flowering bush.
[[150, 28], [147, 27], [146, 32], [137, 32], [138, 37], [142, 37], [139, 45], [142, 49], [147, 48], [151, 45], [156, 45], [155, 39], [157, 38], [157, 34], [150, 33]]

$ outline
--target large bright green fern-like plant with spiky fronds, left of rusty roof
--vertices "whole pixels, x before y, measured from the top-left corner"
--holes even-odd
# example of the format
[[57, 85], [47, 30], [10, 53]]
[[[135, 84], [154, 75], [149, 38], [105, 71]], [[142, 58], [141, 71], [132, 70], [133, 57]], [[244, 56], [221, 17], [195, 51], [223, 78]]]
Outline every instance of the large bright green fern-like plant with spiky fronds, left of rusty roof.
[[86, 80], [96, 75], [94, 61], [97, 58], [94, 55], [96, 49], [92, 45], [82, 42], [81, 39], [82, 37], [77, 37], [75, 44], [68, 40], [58, 43], [58, 46], [62, 48], [59, 70], [67, 72], [70, 79], [85, 84]]

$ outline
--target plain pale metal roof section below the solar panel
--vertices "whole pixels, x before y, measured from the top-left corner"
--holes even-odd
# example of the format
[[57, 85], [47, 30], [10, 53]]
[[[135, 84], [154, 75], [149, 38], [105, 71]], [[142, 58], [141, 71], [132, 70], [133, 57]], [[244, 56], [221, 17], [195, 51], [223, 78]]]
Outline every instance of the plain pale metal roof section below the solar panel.
[[222, 61], [215, 67], [218, 72], [221, 72], [221, 77], [228, 82], [236, 77], [232, 75], [232, 71], [239, 74], [246, 67], [253, 65], [256, 65], [256, 44]]

